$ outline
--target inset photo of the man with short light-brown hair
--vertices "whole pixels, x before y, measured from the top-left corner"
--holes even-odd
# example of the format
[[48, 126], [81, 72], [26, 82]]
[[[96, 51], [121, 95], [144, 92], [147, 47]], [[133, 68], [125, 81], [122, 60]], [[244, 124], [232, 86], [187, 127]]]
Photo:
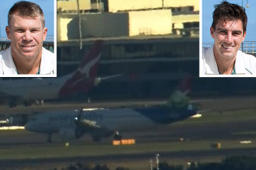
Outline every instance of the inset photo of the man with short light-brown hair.
[[56, 0], [2, 0], [0, 77], [56, 77]]

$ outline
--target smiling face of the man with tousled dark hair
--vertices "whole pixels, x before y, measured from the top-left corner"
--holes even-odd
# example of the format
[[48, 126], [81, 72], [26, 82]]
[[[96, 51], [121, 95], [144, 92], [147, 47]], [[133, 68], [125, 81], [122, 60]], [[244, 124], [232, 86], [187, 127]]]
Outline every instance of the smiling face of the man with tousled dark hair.
[[241, 20], [223, 21], [210, 28], [212, 38], [214, 39], [214, 55], [222, 59], [232, 59], [236, 57], [241, 43], [245, 40], [243, 33], [243, 24]]

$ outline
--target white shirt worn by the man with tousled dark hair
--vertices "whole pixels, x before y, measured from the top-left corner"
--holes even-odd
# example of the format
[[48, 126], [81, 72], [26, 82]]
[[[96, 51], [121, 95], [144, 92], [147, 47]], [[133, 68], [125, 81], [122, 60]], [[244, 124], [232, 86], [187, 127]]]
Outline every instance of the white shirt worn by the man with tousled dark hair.
[[[242, 53], [238, 50], [235, 59], [235, 75], [256, 75], [255, 56]], [[203, 47], [203, 55], [200, 58], [200, 75], [219, 75], [215, 61], [213, 46]]]

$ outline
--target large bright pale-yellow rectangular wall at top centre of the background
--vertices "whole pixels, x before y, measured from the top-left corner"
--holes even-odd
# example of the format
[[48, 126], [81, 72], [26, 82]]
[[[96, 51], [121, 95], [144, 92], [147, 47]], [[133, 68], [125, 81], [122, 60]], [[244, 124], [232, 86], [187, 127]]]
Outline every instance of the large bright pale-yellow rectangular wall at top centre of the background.
[[171, 34], [171, 18], [170, 9], [129, 11], [129, 36]]

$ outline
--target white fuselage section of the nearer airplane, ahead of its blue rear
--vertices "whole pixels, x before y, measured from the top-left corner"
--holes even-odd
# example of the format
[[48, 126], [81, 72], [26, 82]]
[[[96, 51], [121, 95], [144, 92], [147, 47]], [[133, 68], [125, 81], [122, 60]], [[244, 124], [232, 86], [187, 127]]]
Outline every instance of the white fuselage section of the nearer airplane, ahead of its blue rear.
[[[77, 114], [77, 111], [38, 114], [36, 120], [31, 120], [26, 127], [28, 130], [40, 133], [49, 133], [51, 131], [58, 133], [63, 127], [76, 127], [74, 120]], [[156, 124], [131, 108], [88, 111], [83, 113], [81, 118], [82, 120], [95, 121], [96, 125], [101, 128], [107, 128], [110, 131], [148, 128], [154, 127]]]

